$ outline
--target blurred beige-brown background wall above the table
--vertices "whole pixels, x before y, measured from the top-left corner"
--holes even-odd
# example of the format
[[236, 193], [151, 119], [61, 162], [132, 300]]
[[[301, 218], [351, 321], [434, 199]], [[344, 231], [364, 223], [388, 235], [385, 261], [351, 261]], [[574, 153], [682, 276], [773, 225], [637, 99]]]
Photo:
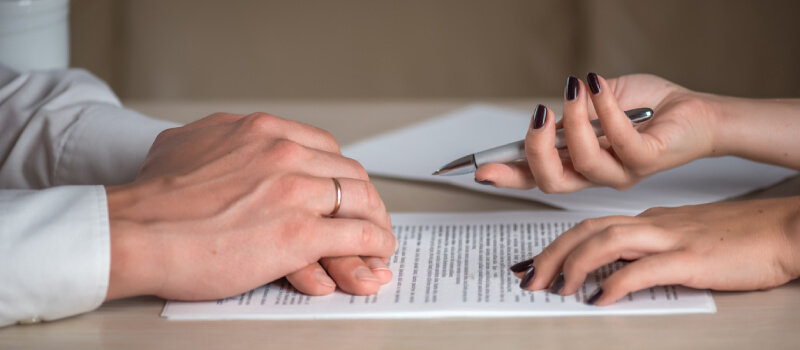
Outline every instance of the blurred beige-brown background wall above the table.
[[800, 2], [72, 0], [72, 65], [124, 98], [558, 96], [649, 72], [800, 96]]

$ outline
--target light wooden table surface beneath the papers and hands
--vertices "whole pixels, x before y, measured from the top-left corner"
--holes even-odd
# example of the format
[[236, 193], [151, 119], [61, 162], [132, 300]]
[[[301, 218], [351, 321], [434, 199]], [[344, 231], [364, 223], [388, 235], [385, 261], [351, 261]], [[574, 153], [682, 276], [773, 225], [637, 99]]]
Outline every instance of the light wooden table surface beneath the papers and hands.
[[[342, 145], [471, 102], [531, 111], [560, 101], [132, 101], [157, 118], [269, 112], [331, 131]], [[549, 206], [453, 186], [373, 178], [392, 212], [541, 210]], [[743, 198], [800, 195], [795, 177]], [[800, 254], [800, 252], [798, 252]], [[68, 319], [0, 329], [0, 349], [800, 349], [800, 280], [769, 291], [714, 292], [716, 314], [434, 320], [167, 321], [164, 301], [109, 302]]]

